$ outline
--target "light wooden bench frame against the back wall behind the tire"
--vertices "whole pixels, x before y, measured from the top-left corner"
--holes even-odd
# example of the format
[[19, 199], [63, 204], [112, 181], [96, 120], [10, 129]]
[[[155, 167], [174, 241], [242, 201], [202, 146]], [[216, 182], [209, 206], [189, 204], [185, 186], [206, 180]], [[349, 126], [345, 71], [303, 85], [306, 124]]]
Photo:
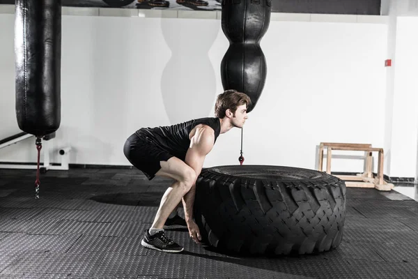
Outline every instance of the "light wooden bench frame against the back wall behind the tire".
[[[331, 158], [333, 150], [343, 151], [364, 151], [366, 162], [364, 165], [364, 173], [357, 175], [334, 175], [339, 179], [346, 181], [347, 187], [376, 188], [381, 191], [390, 191], [394, 188], [394, 184], [387, 183], [383, 179], [383, 160], [385, 154], [381, 148], [373, 148], [371, 144], [344, 144], [334, 142], [321, 142], [319, 145], [319, 162], [318, 171], [323, 171], [324, 149], [327, 149], [327, 174], [331, 174]], [[372, 172], [372, 154], [378, 152], [378, 174], [373, 177]]]

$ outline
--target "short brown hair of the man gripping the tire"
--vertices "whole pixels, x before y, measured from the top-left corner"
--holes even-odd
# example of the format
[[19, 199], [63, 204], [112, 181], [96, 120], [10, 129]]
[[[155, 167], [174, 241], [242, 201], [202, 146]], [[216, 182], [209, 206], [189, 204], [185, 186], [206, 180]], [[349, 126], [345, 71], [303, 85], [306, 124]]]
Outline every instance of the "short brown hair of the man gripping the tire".
[[224, 118], [226, 115], [226, 110], [231, 110], [233, 114], [240, 105], [251, 105], [251, 99], [247, 94], [236, 91], [234, 89], [229, 89], [224, 91], [217, 96], [215, 104], [215, 116], [219, 118]]

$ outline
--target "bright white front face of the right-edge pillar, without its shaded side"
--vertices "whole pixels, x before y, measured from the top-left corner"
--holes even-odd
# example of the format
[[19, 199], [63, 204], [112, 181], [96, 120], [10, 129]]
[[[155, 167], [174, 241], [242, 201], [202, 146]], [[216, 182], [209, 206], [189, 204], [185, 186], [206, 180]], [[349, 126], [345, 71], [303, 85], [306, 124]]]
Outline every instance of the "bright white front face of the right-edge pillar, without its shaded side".
[[[414, 177], [418, 143], [417, 17], [398, 17], [392, 122], [392, 176]], [[396, 175], [393, 175], [396, 174]]]

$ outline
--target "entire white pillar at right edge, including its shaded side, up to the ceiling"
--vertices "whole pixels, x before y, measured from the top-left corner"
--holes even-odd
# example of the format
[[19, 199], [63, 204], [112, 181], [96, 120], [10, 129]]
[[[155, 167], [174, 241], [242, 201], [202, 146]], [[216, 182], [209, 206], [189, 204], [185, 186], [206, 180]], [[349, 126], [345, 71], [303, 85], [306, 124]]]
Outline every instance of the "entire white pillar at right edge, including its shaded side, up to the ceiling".
[[418, 112], [417, 84], [418, 0], [382, 1], [382, 15], [388, 15], [387, 89], [385, 103], [385, 174], [417, 177]]

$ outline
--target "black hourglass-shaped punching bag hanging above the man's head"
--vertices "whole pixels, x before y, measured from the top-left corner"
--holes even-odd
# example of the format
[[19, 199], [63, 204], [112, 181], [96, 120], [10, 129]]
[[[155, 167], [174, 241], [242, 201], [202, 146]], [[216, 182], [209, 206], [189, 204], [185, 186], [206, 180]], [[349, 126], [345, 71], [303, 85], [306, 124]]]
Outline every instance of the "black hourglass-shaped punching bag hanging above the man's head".
[[263, 91], [267, 64], [259, 45], [270, 24], [271, 0], [222, 0], [222, 31], [229, 49], [221, 63], [224, 90], [251, 98], [254, 109]]

